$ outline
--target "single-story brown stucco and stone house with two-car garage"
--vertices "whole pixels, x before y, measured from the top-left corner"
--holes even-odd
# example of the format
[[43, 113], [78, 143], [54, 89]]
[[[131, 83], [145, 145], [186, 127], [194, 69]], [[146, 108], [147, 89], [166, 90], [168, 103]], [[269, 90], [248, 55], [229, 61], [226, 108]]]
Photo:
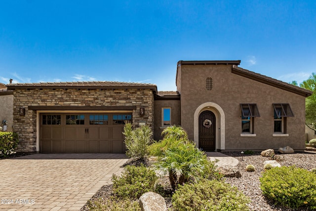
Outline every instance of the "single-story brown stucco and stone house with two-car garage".
[[123, 153], [125, 121], [161, 131], [180, 125], [205, 151], [305, 149], [311, 91], [238, 67], [235, 61], [179, 61], [176, 91], [156, 84], [6, 84], [13, 92], [18, 151]]

